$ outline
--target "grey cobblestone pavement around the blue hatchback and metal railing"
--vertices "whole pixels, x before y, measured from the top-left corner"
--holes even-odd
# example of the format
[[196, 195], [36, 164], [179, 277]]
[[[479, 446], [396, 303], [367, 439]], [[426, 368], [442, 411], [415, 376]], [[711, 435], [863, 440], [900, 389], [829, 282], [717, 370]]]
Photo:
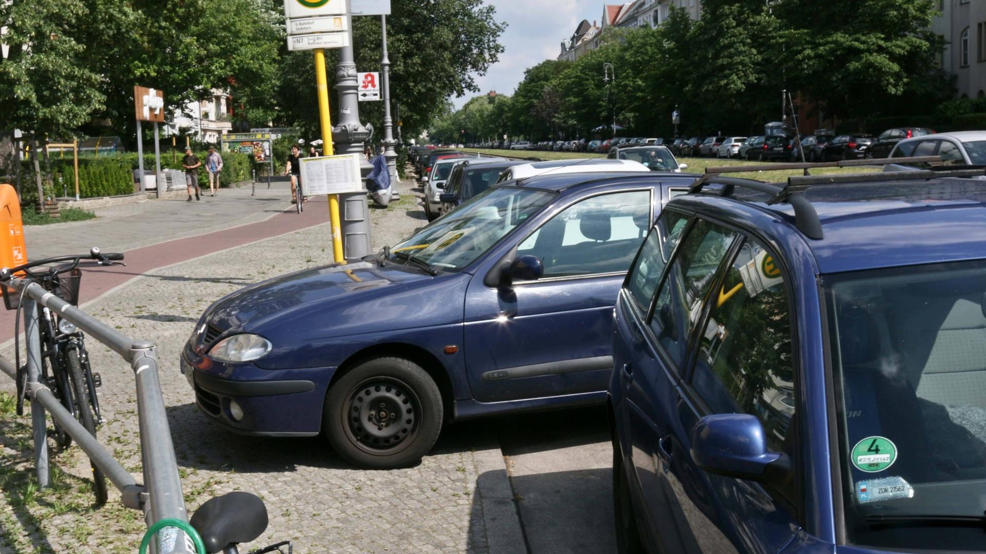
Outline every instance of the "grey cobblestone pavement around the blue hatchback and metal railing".
[[[401, 192], [403, 198], [387, 210], [371, 210], [375, 247], [393, 244], [425, 223], [417, 196]], [[502, 456], [490, 450], [482, 424], [448, 428], [416, 467], [368, 471], [346, 466], [321, 438], [240, 437], [196, 411], [177, 361], [199, 314], [246, 284], [330, 262], [328, 235], [327, 225], [320, 225], [178, 263], [87, 307], [121, 332], [158, 345], [189, 513], [212, 496], [245, 490], [262, 496], [270, 518], [254, 547], [290, 538], [302, 553], [484, 553], [491, 544], [500, 545], [493, 550], [517, 551], [519, 528], [497, 530], [484, 518], [484, 510], [495, 512], [491, 519], [508, 524], [513, 508]], [[95, 340], [89, 349], [103, 378], [106, 423], [100, 441], [142, 481], [132, 371]], [[2, 354], [13, 359], [12, 349]], [[3, 381], [9, 392], [11, 383]], [[140, 515], [120, 507], [111, 487], [106, 507], [92, 508], [82, 479], [89, 474], [88, 460], [77, 447], [52, 454], [55, 486], [36, 489], [29, 426], [30, 418], [16, 417], [10, 398], [0, 396], [0, 551], [136, 551], [144, 530]], [[481, 498], [483, 490], [488, 498]]]

